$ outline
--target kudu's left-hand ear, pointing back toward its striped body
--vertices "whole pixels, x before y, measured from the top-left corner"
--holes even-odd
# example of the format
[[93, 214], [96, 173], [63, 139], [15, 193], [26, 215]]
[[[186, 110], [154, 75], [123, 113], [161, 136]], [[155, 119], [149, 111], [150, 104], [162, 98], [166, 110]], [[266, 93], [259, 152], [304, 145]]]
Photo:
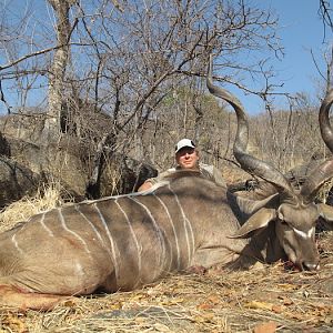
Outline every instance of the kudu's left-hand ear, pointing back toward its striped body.
[[269, 223], [276, 218], [275, 209], [262, 208], [255, 212], [239, 230], [235, 234], [230, 235], [230, 239], [246, 239], [249, 233], [268, 226]]

